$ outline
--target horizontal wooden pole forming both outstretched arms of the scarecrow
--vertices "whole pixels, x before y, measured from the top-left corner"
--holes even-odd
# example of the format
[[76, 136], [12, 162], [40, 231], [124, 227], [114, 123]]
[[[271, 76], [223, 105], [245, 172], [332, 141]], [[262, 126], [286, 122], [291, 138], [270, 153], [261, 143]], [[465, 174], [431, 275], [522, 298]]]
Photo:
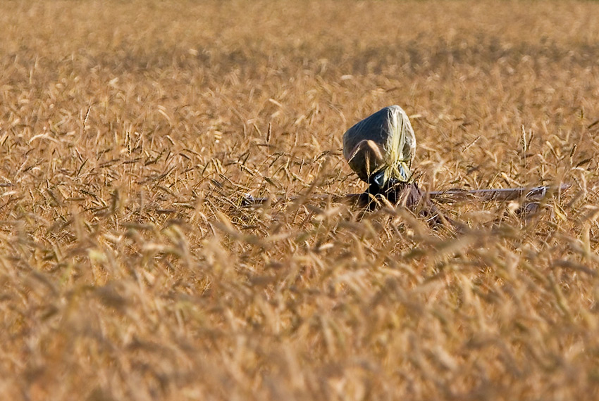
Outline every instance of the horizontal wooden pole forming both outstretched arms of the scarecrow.
[[[483, 202], [507, 200], [541, 200], [548, 194], [554, 195], [562, 193], [569, 189], [569, 184], [560, 184], [559, 186], [533, 186], [531, 188], [502, 188], [502, 189], [448, 189], [447, 191], [431, 191], [424, 192], [422, 195], [429, 199], [434, 199], [439, 203], [453, 203], [462, 200], [481, 200]], [[331, 199], [333, 203], [359, 203], [367, 196], [365, 193], [348, 193], [347, 195], [328, 195], [326, 193], [307, 196], [309, 199], [326, 200]], [[300, 196], [291, 198], [277, 198], [275, 202], [283, 200], [293, 201], [300, 199]], [[246, 195], [242, 200], [242, 205], [249, 207], [252, 205], [261, 205], [266, 203], [270, 198], [254, 198], [251, 195]]]

